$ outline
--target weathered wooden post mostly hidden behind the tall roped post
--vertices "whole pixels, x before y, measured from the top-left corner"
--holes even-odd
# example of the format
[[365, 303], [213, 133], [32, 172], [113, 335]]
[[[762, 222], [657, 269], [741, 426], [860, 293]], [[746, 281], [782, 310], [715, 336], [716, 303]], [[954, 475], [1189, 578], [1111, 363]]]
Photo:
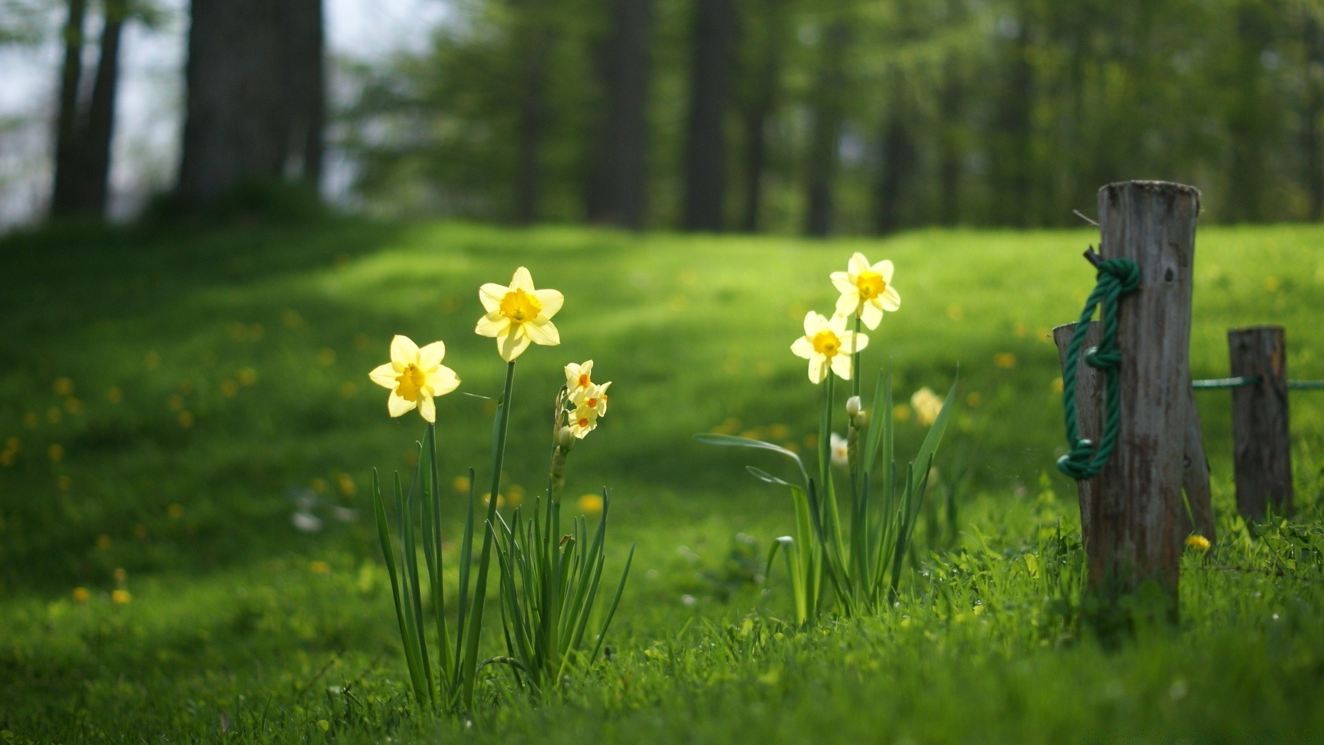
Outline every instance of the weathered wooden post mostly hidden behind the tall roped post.
[[[1053, 342], [1058, 346], [1058, 362], [1063, 370], [1067, 365], [1067, 346], [1071, 343], [1075, 327], [1075, 323], [1064, 323], [1053, 329]], [[1076, 423], [1080, 436], [1095, 443], [1103, 435], [1099, 424], [1103, 420], [1103, 376], [1099, 375], [1098, 370], [1086, 365], [1084, 353], [1098, 345], [1099, 325], [1090, 323], [1090, 330], [1084, 335], [1084, 346], [1080, 349], [1080, 361], [1076, 365]], [[1196, 410], [1196, 394], [1189, 387], [1186, 406], [1181, 488], [1186, 492], [1186, 502], [1190, 505], [1190, 517], [1194, 521], [1186, 520], [1185, 525], [1188, 532], [1198, 533], [1214, 542], [1217, 534], [1209, 489], [1209, 457], [1205, 455], [1205, 437], [1200, 427], [1200, 412]], [[1092, 479], [1076, 481], [1076, 497], [1080, 502], [1080, 536], [1087, 538], [1094, 529]], [[1088, 550], [1090, 546], [1086, 544], [1086, 551]]]

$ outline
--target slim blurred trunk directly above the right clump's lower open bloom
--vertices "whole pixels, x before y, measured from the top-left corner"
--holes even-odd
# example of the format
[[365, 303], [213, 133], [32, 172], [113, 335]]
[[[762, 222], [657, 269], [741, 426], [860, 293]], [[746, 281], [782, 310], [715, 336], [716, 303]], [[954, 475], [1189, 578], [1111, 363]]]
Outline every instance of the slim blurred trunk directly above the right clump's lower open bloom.
[[831, 231], [849, 41], [850, 29], [841, 17], [830, 21], [818, 40], [818, 76], [812, 94], [813, 122], [809, 162], [805, 164], [805, 235], [814, 237], [824, 237]]

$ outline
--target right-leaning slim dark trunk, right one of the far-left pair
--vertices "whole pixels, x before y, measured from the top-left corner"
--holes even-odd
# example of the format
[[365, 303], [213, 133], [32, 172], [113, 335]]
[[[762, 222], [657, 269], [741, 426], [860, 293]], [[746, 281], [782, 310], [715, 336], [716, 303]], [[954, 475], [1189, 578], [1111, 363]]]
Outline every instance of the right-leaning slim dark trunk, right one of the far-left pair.
[[101, 32], [101, 58], [87, 106], [79, 151], [82, 156], [78, 209], [87, 215], [106, 213], [110, 186], [110, 147], [115, 134], [115, 98], [119, 89], [119, 37], [124, 27], [126, 0], [106, 0], [106, 25]]

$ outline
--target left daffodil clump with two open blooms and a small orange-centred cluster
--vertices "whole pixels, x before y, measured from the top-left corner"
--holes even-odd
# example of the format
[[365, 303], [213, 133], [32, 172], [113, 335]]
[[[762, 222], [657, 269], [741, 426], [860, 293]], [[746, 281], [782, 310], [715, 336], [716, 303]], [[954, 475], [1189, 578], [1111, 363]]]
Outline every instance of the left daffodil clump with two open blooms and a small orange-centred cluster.
[[[446, 355], [442, 342], [420, 347], [404, 335], [396, 335], [391, 341], [391, 361], [368, 374], [372, 382], [391, 391], [387, 396], [391, 416], [417, 410], [426, 422], [424, 439], [418, 444], [417, 469], [408, 490], [402, 488], [400, 475], [395, 475], [395, 540], [376, 473], [372, 485], [373, 509], [414, 699], [422, 708], [448, 712], [473, 711], [478, 671], [489, 663], [508, 664], [516, 684], [534, 692], [553, 688], [569, 672], [592, 664], [601, 650], [629, 574], [626, 559], [608, 610], [596, 612], [604, 565], [609, 504], [606, 490], [594, 505], [596, 509], [585, 509], [597, 517], [591, 542], [588, 518], [583, 516], [575, 520], [572, 534], [563, 537], [560, 533], [560, 493], [565, 483], [567, 456], [575, 443], [597, 428], [598, 420], [606, 414], [606, 391], [610, 383], [598, 384], [591, 379], [592, 361], [565, 367], [567, 382], [556, 399], [547, 493], [535, 500], [532, 514], [527, 520], [520, 508], [514, 510], [510, 522], [498, 512], [500, 500], [495, 496], [502, 493], [515, 361], [530, 345], [560, 343], [552, 317], [561, 309], [564, 298], [556, 290], [536, 289], [528, 269], [520, 266], [508, 285], [482, 285], [478, 300], [485, 313], [474, 331], [496, 339], [496, 353], [506, 362], [506, 382], [495, 414], [491, 487], [482, 494], [486, 516], [478, 528], [482, 549], [477, 563], [473, 559], [473, 545], [479, 496], [474, 489], [474, 471], [470, 469], [467, 477], [454, 480], [465, 485], [469, 497], [459, 547], [454, 635], [446, 614], [442, 582], [442, 489], [437, 457], [436, 399], [458, 388], [459, 376], [442, 365]], [[580, 506], [583, 508], [583, 501]], [[500, 619], [508, 654], [479, 663], [478, 650], [494, 547], [500, 577]], [[420, 549], [424, 555], [422, 567], [418, 565]], [[630, 555], [633, 557], [633, 549]], [[430, 632], [429, 616], [433, 626]], [[588, 635], [591, 623], [594, 631]]]

